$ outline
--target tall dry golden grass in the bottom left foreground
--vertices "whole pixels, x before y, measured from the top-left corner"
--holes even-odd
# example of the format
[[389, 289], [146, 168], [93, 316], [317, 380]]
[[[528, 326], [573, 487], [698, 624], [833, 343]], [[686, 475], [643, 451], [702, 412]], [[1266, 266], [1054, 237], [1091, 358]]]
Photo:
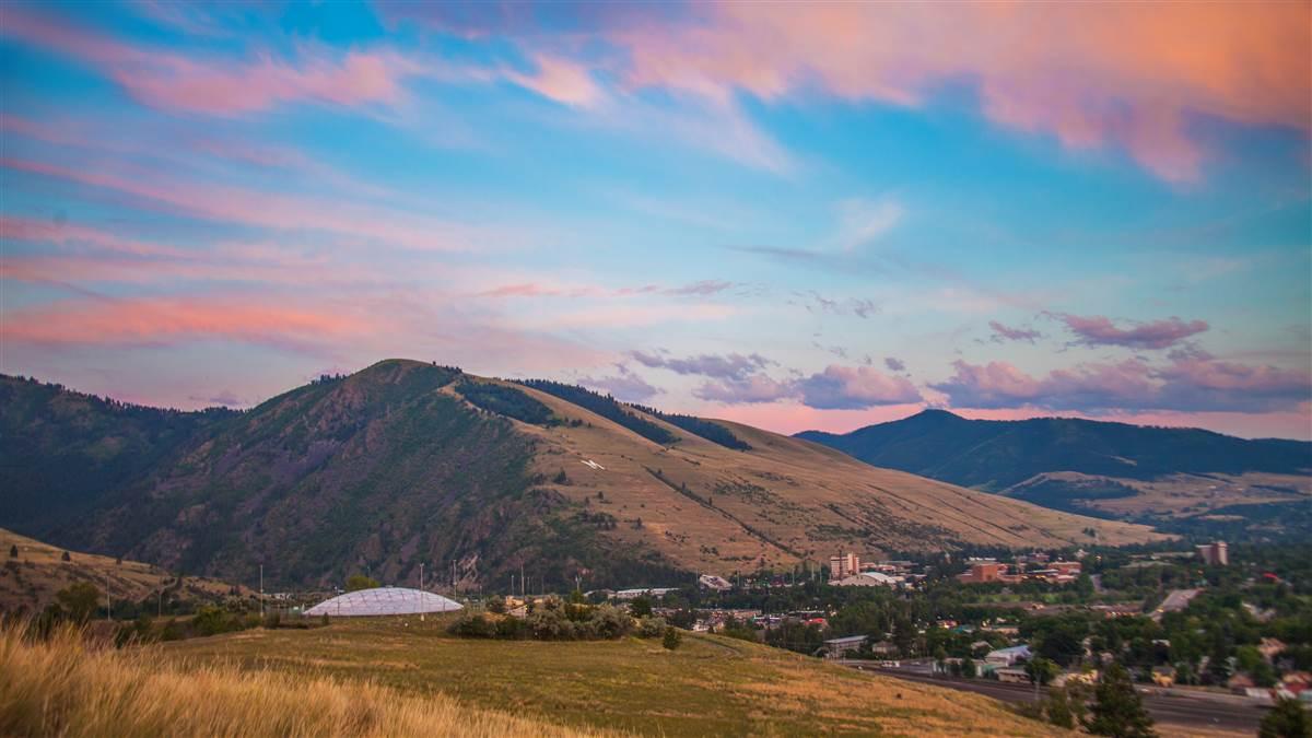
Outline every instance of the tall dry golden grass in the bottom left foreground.
[[0, 735], [601, 735], [369, 682], [197, 664], [0, 628]]

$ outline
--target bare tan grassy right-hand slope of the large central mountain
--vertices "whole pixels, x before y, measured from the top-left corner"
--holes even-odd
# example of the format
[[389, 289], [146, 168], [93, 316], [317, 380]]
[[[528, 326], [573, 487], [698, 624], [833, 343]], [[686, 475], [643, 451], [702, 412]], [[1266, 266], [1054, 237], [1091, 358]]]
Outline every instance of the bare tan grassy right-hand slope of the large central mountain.
[[[819, 444], [736, 423], [724, 425], [752, 450], [727, 449], [674, 427], [669, 428], [682, 440], [663, 448], [579, 406], [523, 391], [558, 416], [584, 422], [554, 428], [518, 424], [542, 440], [535, 470], [551, 478], [564, 469], [571, 482], [558, 491], [614, 516], [617, 528], [607, 536], [655, 548], [686, 569], [728, 574], [762, 562], [789, 567], [802, 559], [828, 561], [841, 550], [933, 550], [954, 541], [1089, 545], [1086, 528], [1110, 545], [1162, 538], [1143, 525], [878, 469]], [[605, 469], [586, 466], [588, 460]], [[655, 478], [648, 471], [653, 469], [673, 486]], [[680, 486], [701, 502], [681, 494]]]

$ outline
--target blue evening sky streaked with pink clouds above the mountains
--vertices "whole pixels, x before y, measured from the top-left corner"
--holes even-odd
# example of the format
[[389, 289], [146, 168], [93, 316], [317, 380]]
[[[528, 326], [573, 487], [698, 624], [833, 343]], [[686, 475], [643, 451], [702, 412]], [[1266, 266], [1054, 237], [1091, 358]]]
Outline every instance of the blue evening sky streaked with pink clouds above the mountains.
[[1312, 4], [0, 4], [0, 372], [1312, 437]]

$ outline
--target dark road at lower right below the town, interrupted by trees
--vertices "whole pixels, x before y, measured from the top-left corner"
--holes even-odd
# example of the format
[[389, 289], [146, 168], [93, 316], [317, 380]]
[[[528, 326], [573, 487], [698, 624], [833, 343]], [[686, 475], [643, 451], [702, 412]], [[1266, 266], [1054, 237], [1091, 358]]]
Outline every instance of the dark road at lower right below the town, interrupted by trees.
[[[949, 679], [943, 676], [930, 676], [929, 674], [912, 671], [907, 667], [879, 668], [874, 667], [870, 662], [861, 663], [845, 661], [842, 663], [844, 666], [862, 668], [884, 676], [905, 679], [908, 682], [921, 682], [925, 684], [934, 684], [937, 687], [947, 687], [950, 689], [975, 692], [977, 695], [985, 695], [1005, 703], [1033, 703], [1035, 699], [1034, 687], [1027, 684], [1004, 684], [989, 679]], [[1042, 696], [1044, 691], [1046, 689], [1040, 688], [1039, 696]], [[1145, 693], [1143, 695], [1143, 700], [1144, 706], [1148, 708], [1148, 713], [1152, 714], [1153, 720], [1157, 722], [1181, 725], [1186, 727], [1207, 727], [1210, 730], [1229, 730], [1246, 733], [1249, 735], [1257, 733], [1257, 725], [1261, 722], [1262, 716], [1266, 714], [1261, 708], [1244, 704], [1237, 699], [1228, 700], [1224, 699], [1224, 696], [1219, 700], [1212, 700], [1203, 697]]]

